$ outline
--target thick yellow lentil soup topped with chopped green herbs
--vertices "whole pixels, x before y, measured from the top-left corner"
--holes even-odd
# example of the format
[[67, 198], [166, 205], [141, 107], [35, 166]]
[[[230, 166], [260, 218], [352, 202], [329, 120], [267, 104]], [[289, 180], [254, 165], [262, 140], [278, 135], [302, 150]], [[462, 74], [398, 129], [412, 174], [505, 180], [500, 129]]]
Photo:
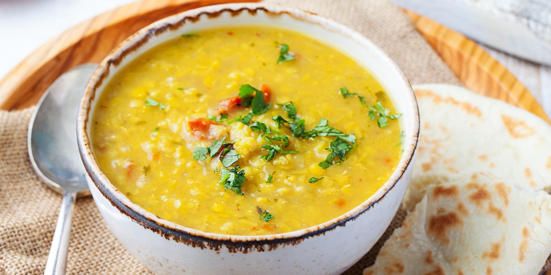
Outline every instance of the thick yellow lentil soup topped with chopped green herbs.
[[184, 34], [102, 92], [95, 157], [130, 200], [204, 232], [266, 235], [343, 215], [395, 170], [401, 131], [377, 81], [269, 27]]

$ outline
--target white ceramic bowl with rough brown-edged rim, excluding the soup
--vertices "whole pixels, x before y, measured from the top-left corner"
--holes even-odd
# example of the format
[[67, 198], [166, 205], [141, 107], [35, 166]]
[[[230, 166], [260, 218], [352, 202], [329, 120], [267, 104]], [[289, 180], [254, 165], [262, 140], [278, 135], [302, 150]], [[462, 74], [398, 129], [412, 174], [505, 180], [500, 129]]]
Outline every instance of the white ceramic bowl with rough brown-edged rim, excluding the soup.
[[[345, 16], [345, 15], [343, 15]], [[368, 200], [344, 215], [294, 232], [237, 236], [186, 228], [145, 211], [101, 171], [90, 146], [89, 117], [112, 76], [148, 49], [188, 32], [218, 26], [275, 26], [300, 31], [369, 70], [403, 116], [403, 155], [396, 171]], [[367, 116], [366, 116], [367, 118]], [[358, 261], [388, 227], [409, 182], [419, 135], [415, 96], [397, 65], [367, 38], [332, 20], [266, 4], [224, 4], [189, 10], [127, 38], [99, 65], [80, 103], [78, 145], [96, 205], [121, 244], [158, 274], [339, 274]]]

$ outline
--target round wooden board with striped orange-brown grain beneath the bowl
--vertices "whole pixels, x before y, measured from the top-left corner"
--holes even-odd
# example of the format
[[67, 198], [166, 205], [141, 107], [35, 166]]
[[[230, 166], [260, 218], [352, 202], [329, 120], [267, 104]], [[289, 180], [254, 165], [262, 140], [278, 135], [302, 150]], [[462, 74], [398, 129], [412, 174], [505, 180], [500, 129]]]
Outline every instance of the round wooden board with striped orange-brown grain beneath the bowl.
[[[35, 105], [50, 84], [76, 65], [100, 60], [127, 36], [156, 20], [205, 5], [255, 0], [142, 0], [109, 10], [52, 38], [0, 80], [0, 109]], [[469, 89], [549, 121], [514, 75], [468, 38], [405, 11], [418, 31]]]

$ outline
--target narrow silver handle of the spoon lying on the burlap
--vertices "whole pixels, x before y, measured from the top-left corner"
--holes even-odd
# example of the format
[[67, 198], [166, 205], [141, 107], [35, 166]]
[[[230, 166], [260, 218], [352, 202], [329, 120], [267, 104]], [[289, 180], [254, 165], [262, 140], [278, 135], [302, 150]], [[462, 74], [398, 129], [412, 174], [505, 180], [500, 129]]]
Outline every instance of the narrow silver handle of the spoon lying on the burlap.
[[65, 274], [69, 235], [71, 235], [71, 216], [73, 215], [75, 199], [77, 199], [77, 193], [66, 192], [63, 195], [60, 216], [57, 217], [56, 232], [53, 233], [52, 247], [50, 248], [50, 254], [48, 254], [44, 275]]

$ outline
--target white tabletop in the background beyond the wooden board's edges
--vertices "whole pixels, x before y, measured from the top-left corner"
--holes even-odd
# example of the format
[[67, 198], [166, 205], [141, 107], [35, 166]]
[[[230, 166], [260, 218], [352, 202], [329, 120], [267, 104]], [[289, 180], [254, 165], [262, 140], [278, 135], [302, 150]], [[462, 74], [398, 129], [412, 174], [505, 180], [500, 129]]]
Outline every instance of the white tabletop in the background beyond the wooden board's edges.
[[[134, 0], [0, 0], [0, 78], [69, 27]], [[551, 117], [551, 68], [487, 51], [514, 74]]]

